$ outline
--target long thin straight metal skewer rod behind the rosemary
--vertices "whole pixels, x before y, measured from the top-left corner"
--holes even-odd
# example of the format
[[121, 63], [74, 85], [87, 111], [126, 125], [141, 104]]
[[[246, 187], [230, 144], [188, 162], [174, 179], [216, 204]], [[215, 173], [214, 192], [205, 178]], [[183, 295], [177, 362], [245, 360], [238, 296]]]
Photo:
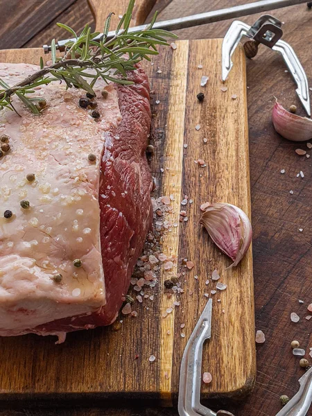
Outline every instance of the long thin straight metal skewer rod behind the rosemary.
[[[178, 19], [171, 19], [166, 21], [157, 21], [153, 25], [153, 28], [166, 29], [167, 31], [177, 31], [183, 28], [191, 28], [193, 26], [213, 23], [214, 21], [233, 19], [234, 17], [253, 15], [254, 13], [267, 12], [268, 10], [294, 6], [295, 4], [300, 3], [306, 3], [306, 0], [260, 0], [254, 3], [243, 4], [241, 6], [234, 6], [220, 10], [212, 10], [211, 12], [199, 13], [198, 15], [180, 17]], [[130, 28], [128, 33], [142, 31], [144, 28], [146, 28], [145, 24], [141, 26], [135, 26]], [[114, 37], [115, 34], [115, 31], [109, 32], [107, 35], [107, 40]], [[99, 40], [101, 35], [102, 34], [98, 35], [98, 37], [95, 37], [94, 40]], [[55, 45], [56, 49], [64, 51], [67, 42], [74, 40], [75, 39], [59, 40]], [[45, 53], [49, 53], [51, 51], [51, 46], [49, 45], [44, 45], [43, 48]]]

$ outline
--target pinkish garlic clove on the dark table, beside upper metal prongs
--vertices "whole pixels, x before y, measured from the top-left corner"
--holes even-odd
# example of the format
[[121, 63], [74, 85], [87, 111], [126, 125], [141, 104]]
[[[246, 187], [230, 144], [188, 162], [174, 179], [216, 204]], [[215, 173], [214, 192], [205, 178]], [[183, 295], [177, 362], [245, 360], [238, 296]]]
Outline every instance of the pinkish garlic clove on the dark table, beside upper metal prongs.
[[293, 141], [312, 139], [312, 120], [288, 112], [277, 101], [272, 111], [272, 122], [275, 130], [285, 139]]

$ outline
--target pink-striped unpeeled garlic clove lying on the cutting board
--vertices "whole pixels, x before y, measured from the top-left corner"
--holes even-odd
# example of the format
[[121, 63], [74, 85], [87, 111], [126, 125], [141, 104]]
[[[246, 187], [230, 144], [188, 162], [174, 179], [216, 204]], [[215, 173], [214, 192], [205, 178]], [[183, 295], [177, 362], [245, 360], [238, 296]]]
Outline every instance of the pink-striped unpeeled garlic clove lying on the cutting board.
[[234, 261], [229, 268], [237, 266], [252, 241], [252, 226], [245, 212], [235, 205], [218, 202], [207, 207], [200, 224], [218, 248]]

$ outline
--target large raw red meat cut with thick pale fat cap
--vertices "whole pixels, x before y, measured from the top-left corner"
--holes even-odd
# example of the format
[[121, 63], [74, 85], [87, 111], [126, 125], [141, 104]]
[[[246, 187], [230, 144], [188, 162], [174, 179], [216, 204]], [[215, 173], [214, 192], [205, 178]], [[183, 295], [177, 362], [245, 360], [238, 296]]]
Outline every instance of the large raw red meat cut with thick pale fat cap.
[[[37, 69], [0, 64], [0, 77], [14, 85]], [[128, 78], [96, 83], [99, 119], [78, 105], [82, 90], [55, 83], [37, 88], [41, 116], [19, 103], [21, 117], [0, 112], [0, 136], [10, 137], [0, 158], [0, 336], [63, 340], [116, 319], [152, 220], [148, 79], [142, 69]]]

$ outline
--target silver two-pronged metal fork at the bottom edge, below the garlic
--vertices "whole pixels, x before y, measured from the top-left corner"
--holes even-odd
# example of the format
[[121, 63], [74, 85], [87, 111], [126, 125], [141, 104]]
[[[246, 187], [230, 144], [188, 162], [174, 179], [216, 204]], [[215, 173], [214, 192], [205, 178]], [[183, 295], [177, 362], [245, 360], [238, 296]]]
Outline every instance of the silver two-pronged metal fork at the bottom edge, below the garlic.
[[[178, 411], [180, 416], [234, 416], [227, 410], [214, 412], [200, 404], [202, 347], [211, 338], [212, 299], [193, 329], [184, 349], [180, 370]], [[300, 378], [300, 389], [276, 416], [305, 416], [312, 402], [312, 367]]]

